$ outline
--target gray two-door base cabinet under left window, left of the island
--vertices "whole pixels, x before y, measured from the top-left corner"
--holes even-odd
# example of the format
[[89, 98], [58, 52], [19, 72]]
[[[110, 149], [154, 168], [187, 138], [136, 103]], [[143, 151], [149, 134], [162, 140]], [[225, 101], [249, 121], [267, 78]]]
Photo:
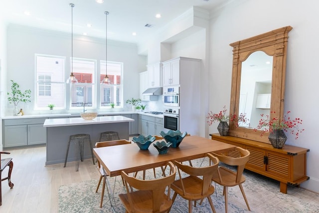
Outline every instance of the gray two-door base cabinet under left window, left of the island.
[[5, 119], [3, 125], [3, 148], [46, 143], [46, 118]]

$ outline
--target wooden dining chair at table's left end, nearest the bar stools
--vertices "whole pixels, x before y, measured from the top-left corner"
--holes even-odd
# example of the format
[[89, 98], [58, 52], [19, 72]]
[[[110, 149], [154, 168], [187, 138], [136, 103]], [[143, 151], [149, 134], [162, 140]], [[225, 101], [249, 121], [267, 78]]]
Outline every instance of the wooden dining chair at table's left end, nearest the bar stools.
[[[96, 148], [100, 148], [100, 147], [109, 147], [109, 146], [117, 146], [117, 145], [124, 145], [124, 144], [131, 144], [131, 141], [127, 141], [127, 140], [115, 140], [115, 141], [104, 141], [104, 142], [97, 142], [95, 143], [95, 147]], [[101, 174], [100, 176], [100, 180], [98, 183], [98, 186], [96, 187], [96, 191], [95, 193], [98, 192], [102, 178], [103, 178], [103, 187], [102, 187], [102, 194], [101, 194], [101, 203], [100, 203], [100, 208], [102, 208], [102, 204], [103, 204], [103, 197], [104, 197], [104, 190], [105, 190], [105, 185], [106, 185], [106, 176], [104, 174], [103, 171], [103, 167], [101, 166], [100, 162], [98, 161], [98, 170]], [[124, 180], [122, 178], [123, 181], [123, 185], [124, 185]]]

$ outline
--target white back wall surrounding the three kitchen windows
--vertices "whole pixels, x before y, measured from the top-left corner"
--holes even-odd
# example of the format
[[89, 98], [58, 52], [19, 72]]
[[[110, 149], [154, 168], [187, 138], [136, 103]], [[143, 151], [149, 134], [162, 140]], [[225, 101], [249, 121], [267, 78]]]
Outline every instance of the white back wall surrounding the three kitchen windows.
[[[31, 89], [34, 97], [34, 54], [66, 56], [66, 71], [71, 56], [71, 35], [56, 31], [9, 25], [7, 29], [7, 73], [6, 81], [14, 80], [21, 90]], [[139, 72], [146, 69], [146, 56], [137, 54], [137, 46], [131, 43], [108, 41], [108, 61], [123, 62], [124, 103], [132, 97], [139, 97]], [[73, 36], [73, 57], [105, 60], [105, 39], [81, 35]], [[7, 90], [10, 88], [7, 85]], [[12, 111], [7, 101], [2, 106]], [[11, 107], [11, 109], [9, 109]], [[22, 104], [25, 113], [32, 114], [33, 102]], [[124, 104], [124, 107], [126, 105]], [[9, 114], [10, 115], [10, 114]]]

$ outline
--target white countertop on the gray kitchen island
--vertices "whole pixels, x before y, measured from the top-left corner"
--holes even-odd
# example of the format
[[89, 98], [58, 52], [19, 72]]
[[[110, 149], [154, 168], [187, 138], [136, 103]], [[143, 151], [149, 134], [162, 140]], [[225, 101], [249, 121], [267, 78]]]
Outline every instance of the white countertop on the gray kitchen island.
[[124, 116], [101, 116], [93, 120], [84, 120], [83, 118], [55, 118], [46, 119], [43, 127], [61, 127], [61, 126], [76, 126], [76, 125], [90, 125], [90, 124], [106, 124], [106, 123], [123, 123], [133, 122], [134, 119]]

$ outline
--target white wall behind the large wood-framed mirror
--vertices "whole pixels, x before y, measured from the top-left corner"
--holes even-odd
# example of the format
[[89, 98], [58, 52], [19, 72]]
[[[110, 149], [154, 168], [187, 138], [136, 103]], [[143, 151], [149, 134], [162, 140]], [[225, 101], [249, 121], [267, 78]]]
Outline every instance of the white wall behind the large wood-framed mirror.
[[[318, 8], [317, 0], [236, 0], [211, 20], [209, 108], [218, 112], [229, 106], [232, 48], [230, 43], [280, 27], [291, 25], [289, 32], [285, 112], [303, 119], [305, 128], [298, 140], [287, 134], [286, 144], [309, 148], [307, 175], [301, 186], [319, 193], [319, 143], [315, 117], [318, 111]], [[298, 15], [297, 15], [298, 14]], [[209, 128], [216, 132], [216, 125]]]

